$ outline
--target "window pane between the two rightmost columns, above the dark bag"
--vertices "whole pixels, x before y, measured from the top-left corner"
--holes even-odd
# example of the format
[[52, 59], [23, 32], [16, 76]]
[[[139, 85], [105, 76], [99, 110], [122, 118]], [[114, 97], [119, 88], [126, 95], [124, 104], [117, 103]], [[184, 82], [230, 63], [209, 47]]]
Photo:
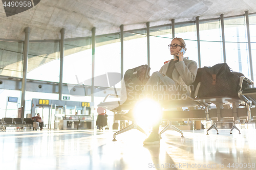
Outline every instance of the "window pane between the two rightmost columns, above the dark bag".
[[245, 17], [224, 18], [227, 64], [233, 71], [250, 77]]

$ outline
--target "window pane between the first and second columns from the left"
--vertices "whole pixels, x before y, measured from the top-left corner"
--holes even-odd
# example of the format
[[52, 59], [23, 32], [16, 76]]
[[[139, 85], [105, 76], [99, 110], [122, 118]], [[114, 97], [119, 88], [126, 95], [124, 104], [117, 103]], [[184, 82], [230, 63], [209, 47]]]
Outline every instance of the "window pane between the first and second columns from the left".
[[59, 82], [59, 42], [29, 43], [27, 79]]

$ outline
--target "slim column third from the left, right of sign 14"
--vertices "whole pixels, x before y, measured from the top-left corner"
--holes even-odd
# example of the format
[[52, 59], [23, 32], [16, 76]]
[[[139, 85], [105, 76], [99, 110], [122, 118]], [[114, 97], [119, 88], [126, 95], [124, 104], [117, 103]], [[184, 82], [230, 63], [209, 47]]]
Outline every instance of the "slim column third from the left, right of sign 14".
[[92, 86], [91, 86], [91, 101], [94, 102], [94, 69], [95, 69], [95, 33], [96, 28], [92, 28]]

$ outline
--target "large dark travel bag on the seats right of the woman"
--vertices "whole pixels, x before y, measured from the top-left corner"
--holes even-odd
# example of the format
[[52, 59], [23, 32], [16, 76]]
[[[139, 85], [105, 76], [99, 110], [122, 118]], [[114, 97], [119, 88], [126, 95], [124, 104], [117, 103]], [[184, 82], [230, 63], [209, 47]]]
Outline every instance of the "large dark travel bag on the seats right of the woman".
[[233, 73], [227, 63], [203, 67], [199, 71], [201, 76], [201, 85], [198, 91], [199, 98], [212, 96], [238, 98], [240, 77]]

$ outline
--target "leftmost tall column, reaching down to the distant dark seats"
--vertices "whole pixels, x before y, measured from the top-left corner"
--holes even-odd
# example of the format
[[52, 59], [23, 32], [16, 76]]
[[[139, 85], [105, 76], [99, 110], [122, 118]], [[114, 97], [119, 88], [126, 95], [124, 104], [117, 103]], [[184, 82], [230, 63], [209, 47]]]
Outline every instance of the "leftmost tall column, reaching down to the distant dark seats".
[[30, 28], [25, 29], [25, 42], [24, 42], [24, 52], [23, 52], [23, 79], [22, 79], [22, 118], [25, 114], [25, 95], [26, 95], [26, 85], [27, 85], [27, 69], [28, 69], [28, 58], [29, 58], [29, 33]]

